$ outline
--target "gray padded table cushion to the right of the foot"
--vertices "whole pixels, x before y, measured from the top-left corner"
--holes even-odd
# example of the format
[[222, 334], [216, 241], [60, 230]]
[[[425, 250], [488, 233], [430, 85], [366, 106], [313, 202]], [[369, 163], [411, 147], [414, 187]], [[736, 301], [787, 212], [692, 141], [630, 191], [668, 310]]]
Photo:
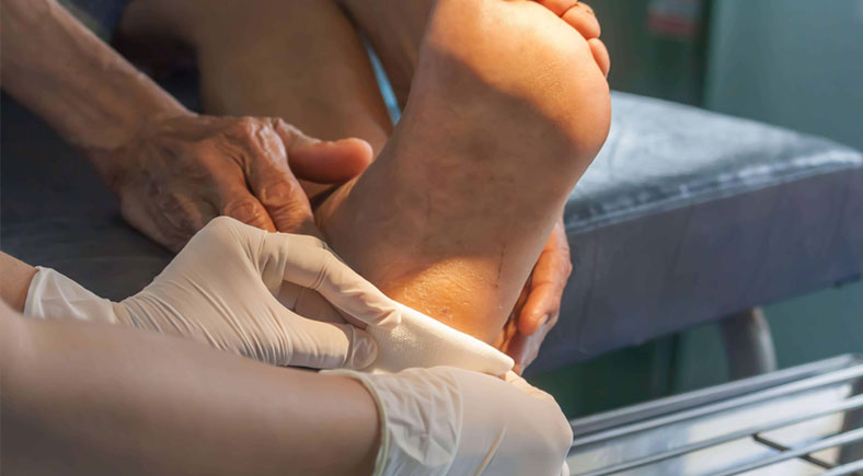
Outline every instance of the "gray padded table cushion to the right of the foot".
[[863, 155], [615, 93], [566, 230], [575, 270], [531, 371], [858, 277]]

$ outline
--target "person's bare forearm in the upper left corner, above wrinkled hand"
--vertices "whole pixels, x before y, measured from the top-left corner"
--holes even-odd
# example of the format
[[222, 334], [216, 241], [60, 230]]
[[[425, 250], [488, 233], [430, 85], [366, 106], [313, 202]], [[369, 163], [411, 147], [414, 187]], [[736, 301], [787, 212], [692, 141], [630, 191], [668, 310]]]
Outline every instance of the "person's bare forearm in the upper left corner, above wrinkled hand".
[[148, 120], [187, 114], [55, 0], [2, 0], [2, 10], [3, 89], [69, 142], [111, 150]]

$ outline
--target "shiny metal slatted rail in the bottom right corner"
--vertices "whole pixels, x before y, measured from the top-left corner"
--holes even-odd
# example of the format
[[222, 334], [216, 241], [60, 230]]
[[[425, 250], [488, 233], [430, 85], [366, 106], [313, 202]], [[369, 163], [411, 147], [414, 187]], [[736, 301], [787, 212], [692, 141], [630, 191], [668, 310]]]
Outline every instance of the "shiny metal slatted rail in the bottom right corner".
[[572, 421], [573, 475], [863, 475], [863, 357]]

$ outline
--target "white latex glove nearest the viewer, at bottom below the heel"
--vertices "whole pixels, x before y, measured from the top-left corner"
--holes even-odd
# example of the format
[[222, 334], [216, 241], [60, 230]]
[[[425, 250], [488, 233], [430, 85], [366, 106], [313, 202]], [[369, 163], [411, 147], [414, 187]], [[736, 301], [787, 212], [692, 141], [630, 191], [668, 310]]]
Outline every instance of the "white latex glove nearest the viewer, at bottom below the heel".
[[451, 367], [327, 373], [360, 381], [378, 405], [375, 475], [568, 475], [568, 421], [513, 372], [506, 381]]

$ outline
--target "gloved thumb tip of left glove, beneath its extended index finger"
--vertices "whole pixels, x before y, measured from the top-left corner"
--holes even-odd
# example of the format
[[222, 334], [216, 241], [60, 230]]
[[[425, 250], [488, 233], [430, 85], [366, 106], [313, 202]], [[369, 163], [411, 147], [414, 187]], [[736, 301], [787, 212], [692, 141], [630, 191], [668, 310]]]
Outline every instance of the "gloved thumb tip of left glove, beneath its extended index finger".
[[295, 314], [292, 352], [287, 365], [310, 369], [364, 369], [378, 357], [375, 339], [350, 324], [323, 323]]

